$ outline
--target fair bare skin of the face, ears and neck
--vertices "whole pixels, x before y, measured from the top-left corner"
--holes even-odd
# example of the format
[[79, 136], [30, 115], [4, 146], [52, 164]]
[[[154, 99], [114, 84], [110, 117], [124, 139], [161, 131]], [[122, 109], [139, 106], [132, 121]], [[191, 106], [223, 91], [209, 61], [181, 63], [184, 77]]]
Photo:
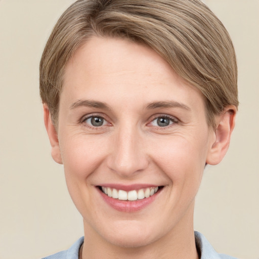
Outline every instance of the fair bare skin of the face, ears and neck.
[[[213, 131], [202, 94], [156, 52], [94, 36], [66, 66], [57, 129], [47, 105], [44, 113], [52, 156], [64, 164], [83, 217], [81, 258], [198, 258], [194, 199], [205, 163], [218, 164], [227, 152], [234, 106], [216, 117]], [[104, 124], [93, 126], [93, 115]], [[159, 126], [164, 116], [170, 123]], [[125, 212], [102, 199], [96, 186], [105, 184], [164, 187], [148, 206]]]

